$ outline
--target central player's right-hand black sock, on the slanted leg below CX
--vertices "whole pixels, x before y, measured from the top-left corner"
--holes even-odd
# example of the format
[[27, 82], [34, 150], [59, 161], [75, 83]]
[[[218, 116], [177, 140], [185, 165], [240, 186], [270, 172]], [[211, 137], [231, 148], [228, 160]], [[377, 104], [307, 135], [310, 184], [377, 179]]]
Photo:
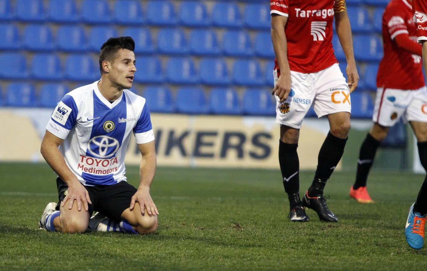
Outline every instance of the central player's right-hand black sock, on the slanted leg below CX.
[[346, 142], [347, 138], [341, 139], [330, 132], [328, 133], [319, 151], [313, 184], [308, 189], [309, 195], [323, 194], [326, 181], [330, 178], [330, 175], [344, 153]]

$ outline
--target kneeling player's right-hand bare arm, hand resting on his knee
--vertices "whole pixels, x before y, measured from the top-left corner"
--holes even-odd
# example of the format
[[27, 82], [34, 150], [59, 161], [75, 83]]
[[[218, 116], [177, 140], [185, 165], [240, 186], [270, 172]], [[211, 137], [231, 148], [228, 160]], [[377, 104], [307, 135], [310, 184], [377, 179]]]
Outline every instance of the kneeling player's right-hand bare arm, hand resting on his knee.
[[148, 143], [138, 144], [142, 154], [141, 164], [139, 166], [140, 184], [135, 195], [132, 196], [130, 210], [132, 211], [137, 201], [144, 215], [144, 207], [149, 216], [158, 215], [158, 210], [150, 195], [150, 186], [156, 172], [156, 150], [154, 140]]

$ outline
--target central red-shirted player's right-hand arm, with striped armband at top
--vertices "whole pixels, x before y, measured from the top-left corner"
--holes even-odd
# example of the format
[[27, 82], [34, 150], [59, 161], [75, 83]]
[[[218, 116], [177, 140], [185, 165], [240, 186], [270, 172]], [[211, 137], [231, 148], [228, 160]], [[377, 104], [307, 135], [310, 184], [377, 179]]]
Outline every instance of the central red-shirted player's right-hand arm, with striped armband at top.
[[339, 43], [347, 60], [347, 68], [345, 72], [348, 78], [348, 87], [350, 92], [356, 89], [359, 82], [359, 73], [357, 73], [356, 61], [354, 60], [353, 38], [351, 36], [350, 20], [348, 19], [347, 9], [345, 9], [345, 2], [336, 0], [335, 3], [343, 2], [344, 9], [335, 10], [335, 28], [336, 35], [338, 35]]

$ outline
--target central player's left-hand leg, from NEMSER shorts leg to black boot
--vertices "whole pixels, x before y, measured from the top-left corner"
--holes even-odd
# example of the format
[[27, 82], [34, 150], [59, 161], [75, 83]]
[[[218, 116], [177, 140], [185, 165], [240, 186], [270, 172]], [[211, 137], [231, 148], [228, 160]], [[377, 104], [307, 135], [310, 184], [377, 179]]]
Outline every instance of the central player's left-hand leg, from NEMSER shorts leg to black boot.
[[[308, 74], [291, 71], [292, 86], [288, 98], [276, 96], [276, 122], [280, 126], [279, 164], [285, 192], [289, 198], [291, 221], [309, 221], [299, 196], [298, 138], [302, 120], [310, 109], [314, 94]], [[274, 73], [275, 82], [277, 73]]]

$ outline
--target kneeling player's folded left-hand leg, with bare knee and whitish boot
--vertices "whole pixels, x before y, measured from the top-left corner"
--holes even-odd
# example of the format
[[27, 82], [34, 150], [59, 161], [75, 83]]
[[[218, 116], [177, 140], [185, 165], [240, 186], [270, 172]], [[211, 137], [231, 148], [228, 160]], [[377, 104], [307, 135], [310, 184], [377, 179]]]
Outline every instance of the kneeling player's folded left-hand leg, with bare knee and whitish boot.
[[[63, 233], [84, 233], [88, 228], [89, 216], [93, 211], [92, 204], [89, 210], [77, 210], [77, 201], [73, 203], [73, 208], [68, 209], [68, 204], [61, 207], [61, 202], [67, 195], [67, 185], [60, 178], [56, 180], [58, 186], [59, 202], [47, 204], [39, 221], [39, 227], [47, 231], [60, 231]], [[88, 188], [87, 188], [88, 189]], [[88, 189], [91, 201], [94, 202], [92, 192]], [[83, 203], [82, 203], [83, 204]]]

